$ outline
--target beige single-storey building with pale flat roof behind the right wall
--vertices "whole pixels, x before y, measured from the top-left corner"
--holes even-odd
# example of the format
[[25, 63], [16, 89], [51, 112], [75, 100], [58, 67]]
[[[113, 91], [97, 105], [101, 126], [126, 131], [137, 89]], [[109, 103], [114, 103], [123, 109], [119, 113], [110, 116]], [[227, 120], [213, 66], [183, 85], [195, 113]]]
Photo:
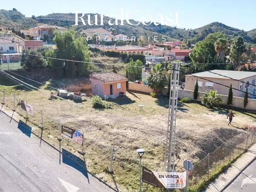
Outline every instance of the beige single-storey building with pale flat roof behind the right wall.
[[[233, 96], [236, 97], [244, 97], [244, 92], [241, 92], [239, 90], [245, 91], [248, 87], [248, 96], [249, 98], [253, 98], [250, 94], [256, 94], [256, 72], [248, 72], [248, 71], [229, 71], [229, 70], [211, 70], [211, 72], [221, 74], [223, 76], [231, 77], [234, 79], [238, 79], [241, 81], [244, 81], [246, 83], [242, 83], [240, 81], [236, 81], [233, 79], [229, 79], [227, 77], [219, 76], [214, 73], [210, 73], [208, 71], [200, 72], [200, 73], [194, 73], [192, 75], [198, 76], [192, 76], [192, 75], [186, 75], [186, 81], [185, 81], [185, 89], [186, 90], [194, 90], [195, 82], [198, 79], [198, 91], [199, 92], [205, 92], [210, 90], [216, 90], [219, 94], [222, 95], [228, 95], [230, 84], [232, 84], [233, 88], [236, 88], [238, 90], [233, 89]], [[228, 87], [225, 87], [220, 84], [216, 84], [204, 79], [200, 79], [199, 77], [202, 77], [204, 79], [214, 81], [220, 84], [227, 85]], [[250, 84], [249, 84], [250, 83]], [[253, 84], [253, 85], [251, 85]]]

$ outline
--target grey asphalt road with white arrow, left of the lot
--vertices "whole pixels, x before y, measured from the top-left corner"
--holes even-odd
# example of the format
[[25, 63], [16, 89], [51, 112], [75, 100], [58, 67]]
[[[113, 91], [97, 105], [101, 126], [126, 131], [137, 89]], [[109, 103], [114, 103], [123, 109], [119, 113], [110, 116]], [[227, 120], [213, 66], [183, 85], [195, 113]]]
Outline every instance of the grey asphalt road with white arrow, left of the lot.
[[17, 125], [0, 112], [0, 192], [113, 192], [65, 155], [59, 164], [58, 151]]

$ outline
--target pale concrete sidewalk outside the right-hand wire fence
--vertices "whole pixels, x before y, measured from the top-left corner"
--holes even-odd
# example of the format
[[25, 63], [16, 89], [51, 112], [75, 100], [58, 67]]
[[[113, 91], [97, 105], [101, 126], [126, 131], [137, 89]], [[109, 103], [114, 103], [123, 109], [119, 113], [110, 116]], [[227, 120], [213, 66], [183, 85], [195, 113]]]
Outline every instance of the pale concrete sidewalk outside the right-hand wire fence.
[[[256, 144], [251, 146], [249, 151], [256, 151]], [[235, 178], [241, 173], [241, 170], [245, 169], [253, 160], [256, 155], [251, 152], [242, 154], [239, 159], [236, 160], [233, 165], [230, 166], [224, 173], [219, 175], [212, 183], [209, 184], [206, 192], [219, 192], [222, 191], [227, 185], [229, 185]]]

